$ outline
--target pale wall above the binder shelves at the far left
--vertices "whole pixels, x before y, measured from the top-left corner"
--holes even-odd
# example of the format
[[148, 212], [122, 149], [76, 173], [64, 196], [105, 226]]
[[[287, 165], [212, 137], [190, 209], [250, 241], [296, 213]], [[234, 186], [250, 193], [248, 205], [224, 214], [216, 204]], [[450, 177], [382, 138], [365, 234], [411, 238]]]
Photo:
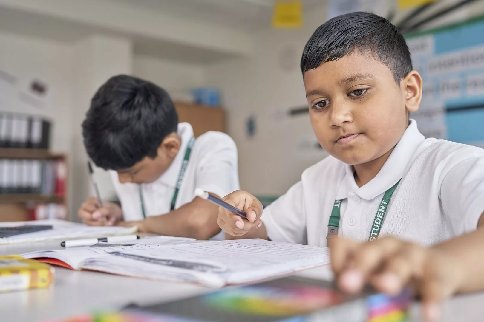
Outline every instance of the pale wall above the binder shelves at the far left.
[[[49, 85], [49, 97], [43, 107], [14, 100], [12, 104], [3, 103], [0, 110], [43, 115], [51, 119], [51, 149], [69, 153], [72, 129], [66, 120], [71, 117], [71, 47], [61, 42], [0, 32], [0, 48], [0, 70], [17, 77], [20, 88], [33, 77]], [[18, 97], [16, 93], [14, 95]]]

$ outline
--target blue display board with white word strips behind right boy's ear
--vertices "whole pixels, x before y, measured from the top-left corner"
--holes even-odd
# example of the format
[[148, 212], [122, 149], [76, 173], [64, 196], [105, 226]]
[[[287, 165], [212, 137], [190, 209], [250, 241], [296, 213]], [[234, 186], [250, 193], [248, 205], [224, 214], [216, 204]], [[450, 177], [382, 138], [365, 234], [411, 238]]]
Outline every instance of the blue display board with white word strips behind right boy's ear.
[[422, 134], [484, 147], [484, 17], [406, 39], [423, 79], [410, 113]]

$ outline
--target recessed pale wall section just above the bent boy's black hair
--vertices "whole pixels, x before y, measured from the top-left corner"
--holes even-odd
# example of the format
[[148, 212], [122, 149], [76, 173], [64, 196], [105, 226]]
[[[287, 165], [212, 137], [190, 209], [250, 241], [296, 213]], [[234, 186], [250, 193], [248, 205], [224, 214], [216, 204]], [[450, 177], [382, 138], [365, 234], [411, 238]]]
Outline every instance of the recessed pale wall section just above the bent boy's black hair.
[[150, 56], [134, 56], [133, 74], [163, 87], [174, 100], [191, 100], [190, 89], [205, 85], [202, 65]]

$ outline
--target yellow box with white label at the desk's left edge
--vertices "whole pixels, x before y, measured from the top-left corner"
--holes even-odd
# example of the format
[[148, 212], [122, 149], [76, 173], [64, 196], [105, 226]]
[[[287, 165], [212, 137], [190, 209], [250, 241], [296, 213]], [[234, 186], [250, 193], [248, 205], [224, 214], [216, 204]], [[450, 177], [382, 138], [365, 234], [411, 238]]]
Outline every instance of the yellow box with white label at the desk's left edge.
[[20, 255], [0, 256], [0, 292], [45, 288], [54, 283], [54, 268]]

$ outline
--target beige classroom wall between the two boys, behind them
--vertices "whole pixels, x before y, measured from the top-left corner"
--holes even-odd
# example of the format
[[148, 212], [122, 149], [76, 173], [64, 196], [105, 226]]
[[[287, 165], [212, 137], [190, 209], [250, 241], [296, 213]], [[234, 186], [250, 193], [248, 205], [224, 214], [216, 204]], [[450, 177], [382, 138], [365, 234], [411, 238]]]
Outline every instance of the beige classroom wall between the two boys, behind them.
[[[314, 148], [317, 140], [307, 114], [285, 115], [289, 108], [307, 105], [299, 60], [305, 42], [325, 17], [325, 9], [319, 8], [306, 14], [304, 28], [260, 32], [249, 58], [212, 64], [206, 70], [207, 84], [221, 90], [228, 134], [239, 149], [241, 187], [253, 194], [285, 193], [305, 168], [327, 156]], [[251, 115], [256, 120], [254, 137], [246, 134]]]

